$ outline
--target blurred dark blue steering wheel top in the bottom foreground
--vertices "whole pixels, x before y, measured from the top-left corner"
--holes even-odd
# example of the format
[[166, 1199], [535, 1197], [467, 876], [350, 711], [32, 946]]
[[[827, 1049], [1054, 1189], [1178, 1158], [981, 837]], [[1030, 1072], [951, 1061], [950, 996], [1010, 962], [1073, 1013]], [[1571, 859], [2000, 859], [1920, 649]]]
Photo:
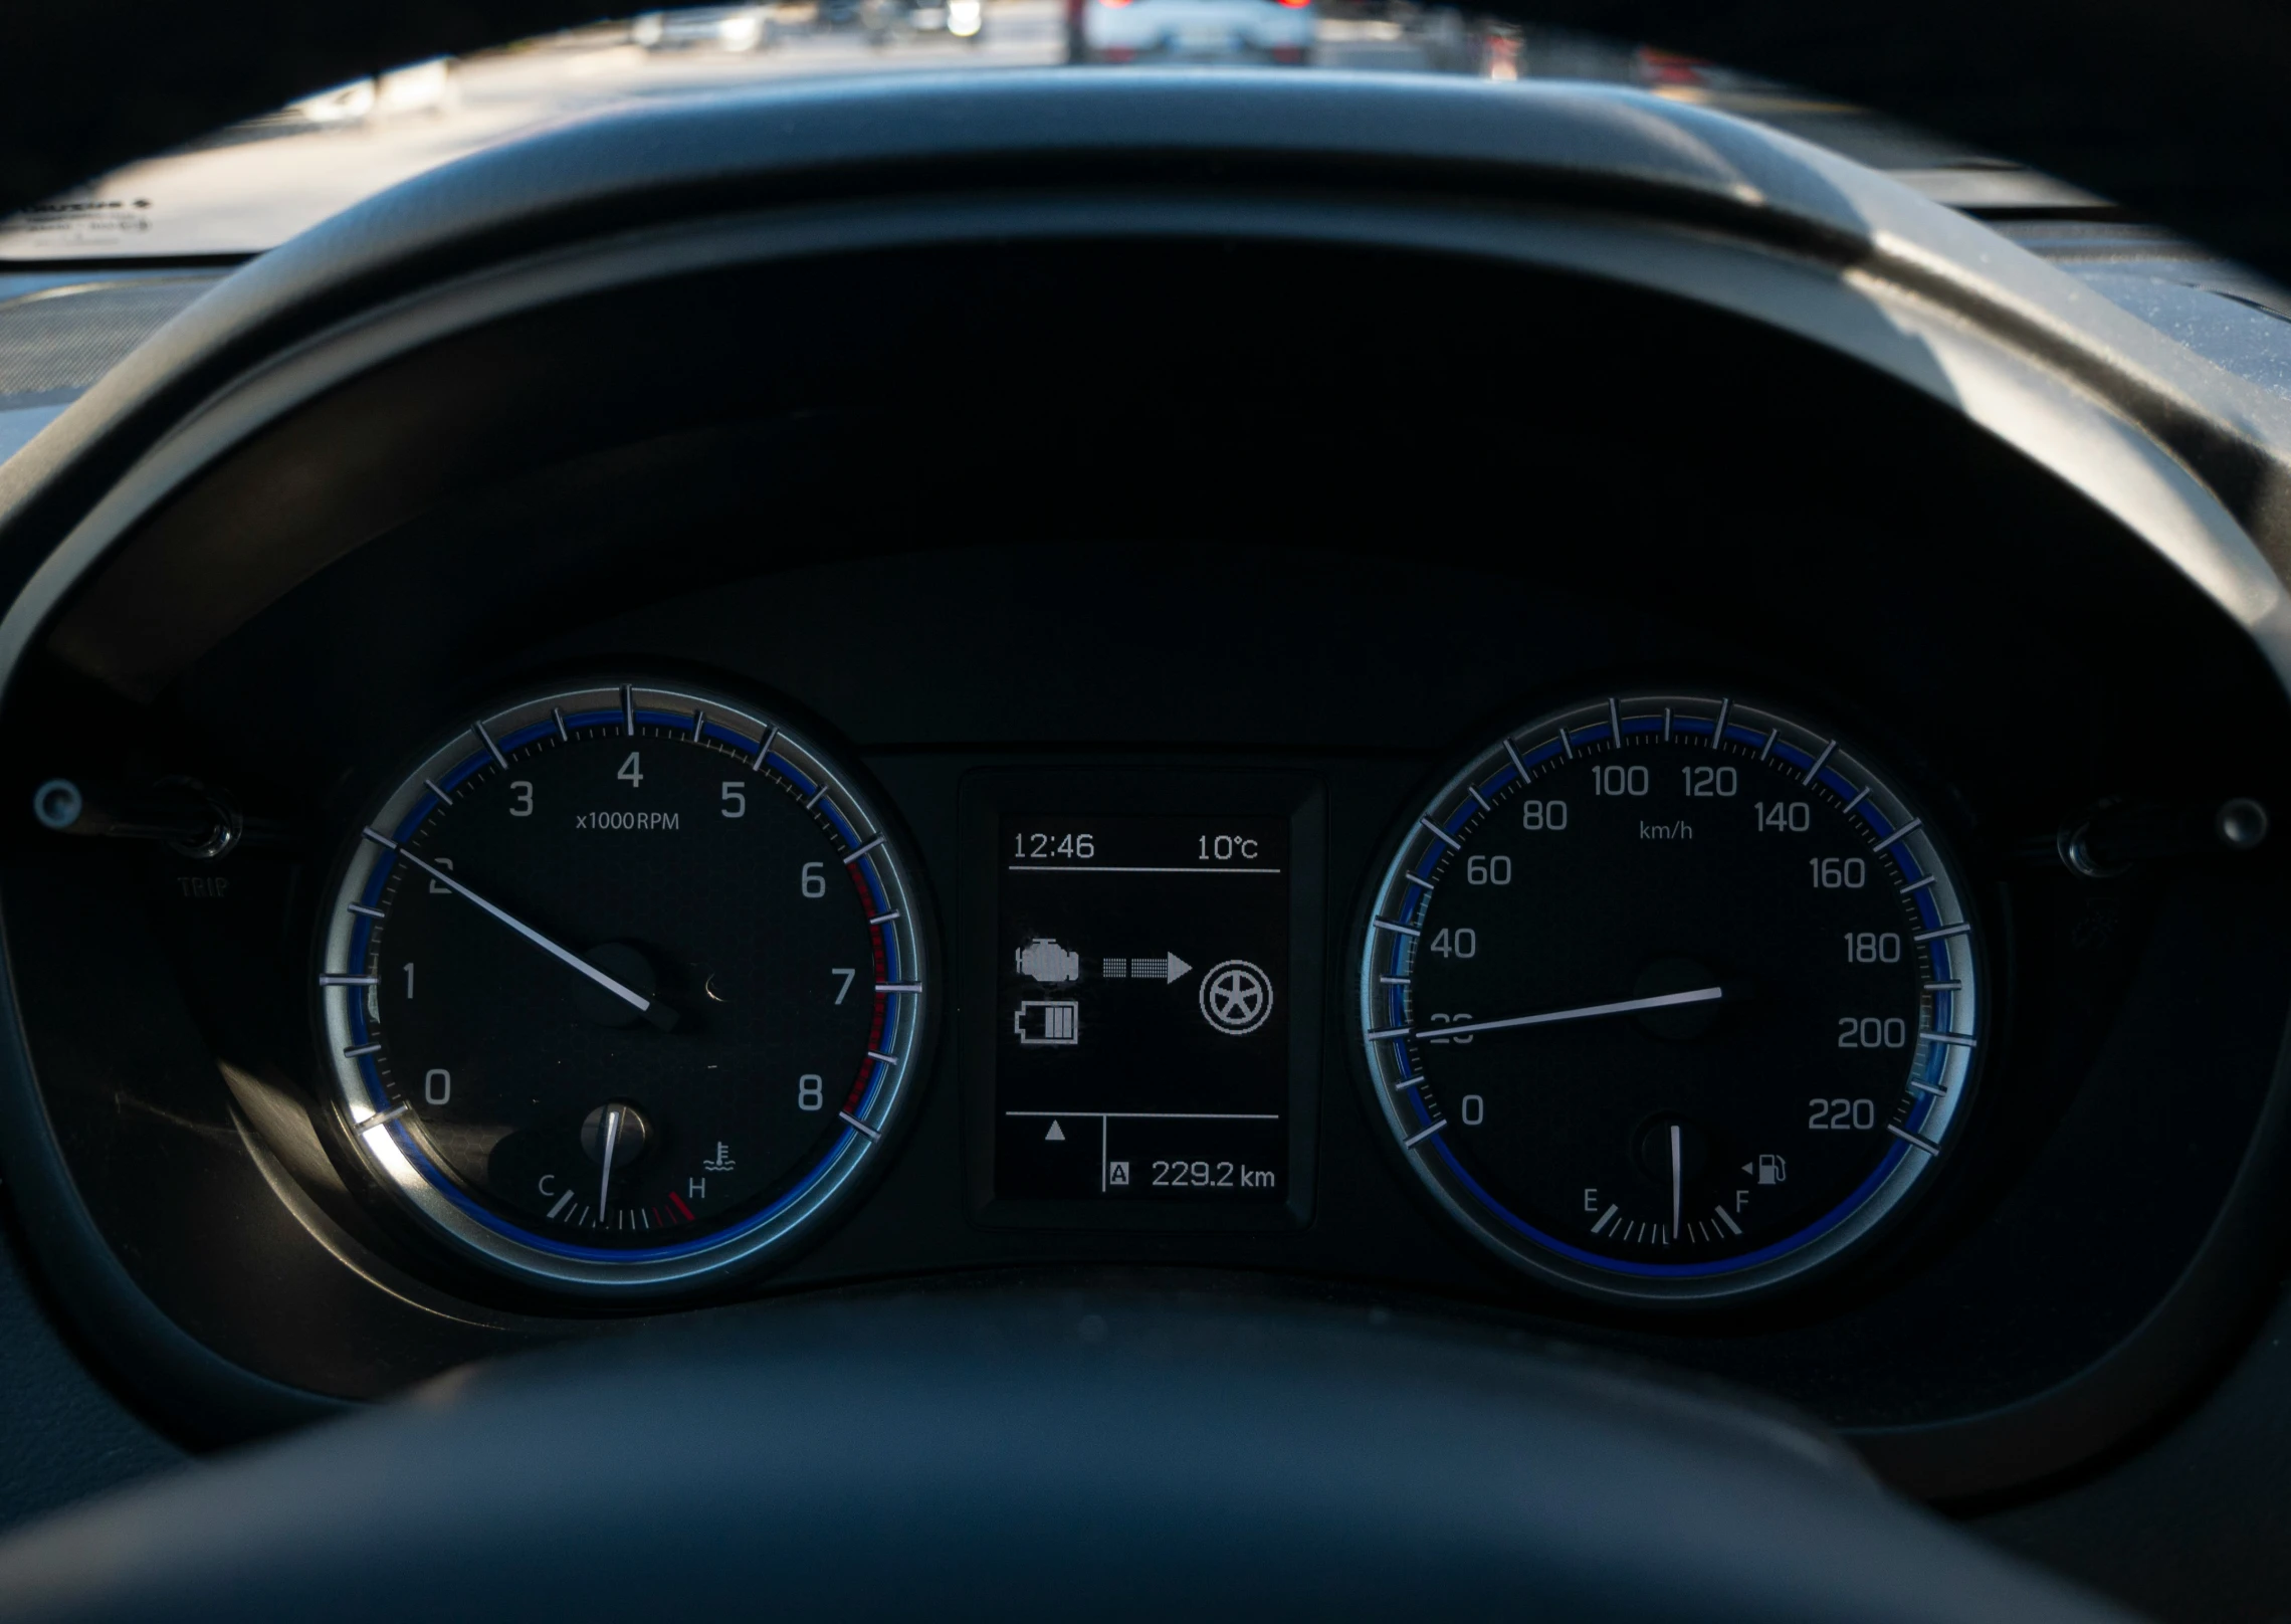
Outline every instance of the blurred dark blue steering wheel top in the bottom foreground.
[[2124, 1617], [1780, 1411], [1517, 1333], [1107, 1290], [779, 1303], [447, 1377], [16, 1535], [0, 1597], [147, 1624]]

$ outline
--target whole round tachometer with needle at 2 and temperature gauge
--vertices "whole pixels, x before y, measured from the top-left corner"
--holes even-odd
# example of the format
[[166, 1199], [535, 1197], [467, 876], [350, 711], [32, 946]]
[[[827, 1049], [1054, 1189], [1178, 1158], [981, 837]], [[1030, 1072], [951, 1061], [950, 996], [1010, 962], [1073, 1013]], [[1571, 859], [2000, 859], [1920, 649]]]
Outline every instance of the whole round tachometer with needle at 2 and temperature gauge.
[[360, 1154], [536, 1283], [692, 1283], [784, 1248], [912, 1093], [907, 866], [845, 772], [722, 696], [490, 710], [392, 788], [318, 996]]

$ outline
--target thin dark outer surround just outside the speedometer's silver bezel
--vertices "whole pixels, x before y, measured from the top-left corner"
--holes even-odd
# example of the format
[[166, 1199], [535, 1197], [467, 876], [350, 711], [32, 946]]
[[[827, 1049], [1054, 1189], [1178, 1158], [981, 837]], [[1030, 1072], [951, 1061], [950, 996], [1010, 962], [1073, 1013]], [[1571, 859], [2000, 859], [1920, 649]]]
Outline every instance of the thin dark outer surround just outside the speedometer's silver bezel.
[[[1537, 717], [1553, 717], [1578, 708], [1585, 703], [1585, 696], [1601, 694], [1732, 696], [1737, 703], [1766, 710], [1805, 728], [1835, 726], [1840, 749], [1849, 749], [1858, 760], [1872, 765], [1924, 818], [1934, 843], [1959, 882], [1959, 900], [1979, 941], [1977, 1008], [1982, 1042], [1973, 1054], [1973, 1065], [1966, 1074], [1966, 1095], [1950, 1127], [1952, 1143], [1908, 1198], [1895, 1205], [1856, 1246], [1789, 1276], [1771, 1292], [1718, 1301], [1622, 1299], [1572, 1287], [1556, 1276], [1533, 1274], [1501, 1258], [1457, 1223], [1441, 1207], [1432, 1189], [1425, 1187], [1416, 1168], [1409, 1166], [1407, 1152], [1384, 1120], [1379, 1083], [1370, 1072], [1361, 1042], [1359, 976], [1370, 932], [1368, 919], [1375, 912], [1386, 873], [1418, 831], [1416, 820], [1432, 806], [1432, 797], [1478, 760], [1494, 740], [1505, 738], [1507, 731], [1519, 733], [1519, 728]], [[1501, 1290], [1507, 1296], [1535, 1301], [1567, 1319], [1611, 1322], [1617, 1329], [1645, 1326], [1666, 1335], [1682, 1319], [1691, 1319], [1700, 1333], [1709, 1335], [1766, 1338], [1792, 1326], [1833, 1319], [1851, 1312], [1856, 1303], [1883, 1296], [1899, 1287], [1906, 1276], [1945, 1255], [1954, 1239], [1961, 1239], [1982, 1221], [2002, 1193], [2000, 1180], [2009, 1177], [2011, 1164], [2025, 1154], [2025, 1143], [1991, 1138], [1986, 1129], [1993, 1104], [1984, 1097], [1989, 1093], [1984, 1079], [1995, 1074], [2009, 1077], [2014, 1067], [2011, 967], [2016, 955], [2011, 905], [2005, 886], [2007, 852], [1998, 850], [1998, 843], [1984, 836], [1963, 793], [1934, 770], [1922, 749], [1904, 738], [1897, 726], [1869, 715], [1867, 708], [1837, 694], [1801, 696], [1785, 683], [1778, 683], [1771, 671], [1732, 669], [1714, 676], [1709, 671], [1677, 673], [1661, 664], [1652, 667], [1652, 673], [1650, 667], [1608, 669], [1583, 678], [1569, 676], [1565, 685], [1553, 683], [1530, 689], [1512, 703], [1480, 712], [1469, 728], [1457, 731], [1457, 738], [1462, 742], [1452, 744], [1439, 765], [1423, 774], [1400, 802], [1375, 861], [1363, 873], [1361, 891], [1352, 900], [1352, 923], [1343, 957], [1345, 985], [1338, 992], [1338, 1003], [1343, 1008], [1340, 1047], [1386, 1166], [1409, 1200], [1473, 1260], [1480, 1274], [1491, 1283], [1501, 1280]], [[1512, 802], [1501, 804], [1510, 806]], [[1906, 1061], [1902, 1070], [1906, 1074]], [[2037, 1102], [2025, 1099], [2023, 1104]]]

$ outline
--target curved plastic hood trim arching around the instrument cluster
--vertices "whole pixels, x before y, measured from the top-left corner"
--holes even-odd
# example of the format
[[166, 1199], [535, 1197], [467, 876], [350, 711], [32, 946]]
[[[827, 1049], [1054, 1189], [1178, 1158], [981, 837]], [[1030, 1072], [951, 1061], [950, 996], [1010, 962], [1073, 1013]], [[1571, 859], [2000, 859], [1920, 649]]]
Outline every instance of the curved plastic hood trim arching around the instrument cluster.
[[[1970, 220], [1748, 124], [1624, 92], [1255, 73], [919, 78], [648, 108], [385, 192], [227, 277], [0, 467], [0, 678], [172, 490], [415, 344], [701, 263], [1074, 231], [1507, 259], [1796, 332], [1954, 403], [2085, 490], [2291, 683], [2291, 602], [2252, 543], [2291, 557], [2291, 405]], [[5, 980], [0, 1024], [9, 1184], [126, 1379], [199, 1436], [334, 1409], [218, 1358], [142, 1296], [71, 1189]], [[2149, 1416], [2238, 1315], [2225, 1285], [2273, 1212], [2252, 1168], [2275, 1161], [2286, 1115], [2277, 1081], [2215, 1246], [2140, 1345]], [[2060, 1422], [1982, 1445], [1979, 1482], [1904, 1436], [1872, 1434], [1872, 1454], [1929, 1493], [2060, 1471], [2099, 1448], [2069, 1418], [2119, 1363], [2037, 1402]]]

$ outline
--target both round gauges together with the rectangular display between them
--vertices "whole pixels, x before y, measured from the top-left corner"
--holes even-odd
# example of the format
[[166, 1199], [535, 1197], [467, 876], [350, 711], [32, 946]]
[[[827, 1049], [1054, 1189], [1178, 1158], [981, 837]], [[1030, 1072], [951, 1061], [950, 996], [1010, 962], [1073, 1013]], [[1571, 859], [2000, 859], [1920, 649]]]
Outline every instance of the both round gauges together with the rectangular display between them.
[[[974, 1214], [1294, 1228], [1322, 994], [1466, 1235], [1615, 1299], [1840, 1262], [1968, 1113], [1982, 930], [1833, 728], [1617, 692], [1485, 742], [1329, 898], [1310, 774], [962, 783]], [[1359, 948], [1315, 985], [1326, 916]], [[314, 996], [346, 1143], [529, 1285], [664, 1292], [832, 1225], [948, 999], [877, 790], [770, 703], [600, 673], [460, 722], [346, 834]]]

